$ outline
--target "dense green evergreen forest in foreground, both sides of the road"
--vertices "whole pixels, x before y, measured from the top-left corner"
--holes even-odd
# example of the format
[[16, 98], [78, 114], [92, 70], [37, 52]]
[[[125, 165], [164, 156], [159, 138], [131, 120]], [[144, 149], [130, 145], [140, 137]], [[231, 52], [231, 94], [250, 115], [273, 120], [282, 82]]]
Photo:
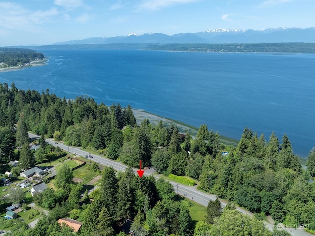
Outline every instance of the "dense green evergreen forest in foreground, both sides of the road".
[[[127, 219], [132, 220], [131, 228], [139, 236], [287, 235], [285, 231], [267, 231], [260, 221], [265, 215], [271, 215], [276, 223], [315, 230], [311, 179], [315, 176], [315, 152], [310, 151], [307, 170], [303, 170], [285, 134], [281, 142], [274, 133], [266, 140], [263, 134], [258, 137], [245, 128], [237, 147], [225, 146], [219, 134], [205, 124], [192, 139], [175, 125], [160, 122], [153, 127], [148, 119], [137, 123], [130, 106], [107, 107], [83, 96], [61, 99], [48, 89], [24, 91], [14, 83], [10, 88], [0, 84], [0, 101], [2, 163], [15, 158], [26, 169], [42, 161], [37, 154], [40, 149], [35, 157], [28, 151], [27, 131], [32, 131], [41, 136], [44, 153], [51, 152], [44, 147], [44, 137], [50, 137], [129, 166], [125, 173], [105, 167], [98, 190], [88, 196], [81, 184], [72, 181], [72, 172], [64, 165], [56, 176], [56, 191], [47, 189], [34, 197], [38, 206], [50, 210], [48, 216], [41, 217], [33, 229], [17, 222], [7, 235], [73, 235], [56, 222], [66, 216], [82, 221], [81, 232], [76, 234], [86, 236], [124, 235], [119, 231]], [[16, 147], [22, 147], [21, 151], [16, 152]], [[222, 155], [223, 151], [229, 154]], [[200, 189], [232, 204], [222, 210], [219, 201], [210, 201], [206, 221], [194, 222], [170, 183], [134, 175], [130, 167], [138, 167], [139, 160], [158, 173], [199, 180]], [[256, 217], [238, 213], [233, 204], [256, 213]]]

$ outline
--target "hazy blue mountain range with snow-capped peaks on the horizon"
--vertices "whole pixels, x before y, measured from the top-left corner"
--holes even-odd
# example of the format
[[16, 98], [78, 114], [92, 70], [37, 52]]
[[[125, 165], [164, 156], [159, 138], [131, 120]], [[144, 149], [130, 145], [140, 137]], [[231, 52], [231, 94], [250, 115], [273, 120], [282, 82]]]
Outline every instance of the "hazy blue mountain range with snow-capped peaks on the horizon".
[[64, 44], [148, 44], [148, 43], [315, 43], [315, 27], [311, 28], [269, 28], [264, 30], [212, 29], [198, 33], [179, 33], [167, 35], [163, 33], [130, 33], [127, 36], [93, 37], [82, 40], [58, 42]]

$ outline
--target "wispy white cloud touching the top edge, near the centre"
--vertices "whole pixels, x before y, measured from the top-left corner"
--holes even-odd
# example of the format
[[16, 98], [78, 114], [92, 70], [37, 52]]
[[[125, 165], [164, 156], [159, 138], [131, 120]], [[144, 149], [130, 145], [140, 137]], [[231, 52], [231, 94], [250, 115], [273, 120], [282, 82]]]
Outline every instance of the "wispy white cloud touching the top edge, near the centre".
[[137, 11], [157, 11], [174, 5], [187, 4], [196, 0], [143, 0], [138, 6]]

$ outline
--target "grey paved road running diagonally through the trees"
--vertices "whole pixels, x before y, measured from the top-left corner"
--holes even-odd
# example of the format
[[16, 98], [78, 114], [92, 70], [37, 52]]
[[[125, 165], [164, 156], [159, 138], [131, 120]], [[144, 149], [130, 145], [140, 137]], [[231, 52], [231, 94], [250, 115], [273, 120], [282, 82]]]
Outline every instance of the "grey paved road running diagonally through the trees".
[[[34, 135], [34, 134], [31, 134], [29, 133], [29, 136], [32, 138], [32, 137], [39, 137], [37, 135]], [[52, 140], [49, 140], [49, 139], [46, 139], [46, 142], [47, 143], [50, 143], [54, 146], [59, 146], [61, 149], [65, 150], [65, 151], [69, 151], [71, 153], [75, 153], [75, 154], [79, 154], [81, 156], [86, 156], [86, 155], [89, 155], [90, 153], [89, 152], [86, 152], [86, 151], [83, 151], [79, 148], [72, 148], [72, 147], [69, 147], [67, 145], [63, 145], [61, 143], [55, 143], [55, 141], [52, 141]], [[97, 163], [100, 163], [102, 165], [106, 165], [106, 166], [112, 166], [113, 168], [115, 168], [116, 170], [118, 171], [124, 171], [127, 166], [121, 164], [120, 162], [115, 162], [115, 161], [111, 161], [109, 159], [106, 159], [104, 157], [101, 157], [101, 156], [98, 156], [98, 155], [94, 155], [94, 154], [91, 154], [92, 156], [92, 161], [95, 161]], [[136, 169], [134, 169], [134, 171], [136, 171]], [[154, 170], [151, 168], [149, 170], [145, 170], [144, 172], [144, 175], [145, 176], [149, 176], [151, 174], [153, 174]], [[156, 178], [159, 178], [157, 176], [155, 176]], [[184, 185], [181, 185], [181, 184], [177, 184], [175, 182], [172, 182], [170, 181], [170, 183], [174, 186], [174, 190], [175, 192], [177, 192], [178, 194], [190, 199], [190, 200], [193, 200], [205, 207], [208, 206], [208, 203], [210, 200], [215, 200], [217, 198], [216, 195], [213, 195], [213, 194], [207, 194], [207, 193], [204, 193], [204, 192], [201, 192], [199, 190], [197, 190], [196, 186], [191, 186], [191, 187], [188, 187], [188, 186], [184, 186]], [[221, 201], [221, 204], [222, 204], [222, 207], [225, 207], [226, 203], [222, 202]], [[247, 210], [244, 210], [243, 208], [240, 208], [240, 207], [236, 207], [236, 209], [243, 213], [243, 214], [247, 214], [247, 215], [250, 215], [252, 216], [253, 214]], [[274, 226], [273, 224], [269, 223], [269, 222], [265, 222], [265, 226], [270, 230], [272, 231]], [[314, 234], [311, 234], [311, 233], [308, 233], [308, 232], [305, 232], [303, 231], [302, 229], [291, 229], [291, 228], [285, 228], [284, 230], [286, 230], [287, 232], [289, 232], [292, 236], [314, 236]]]

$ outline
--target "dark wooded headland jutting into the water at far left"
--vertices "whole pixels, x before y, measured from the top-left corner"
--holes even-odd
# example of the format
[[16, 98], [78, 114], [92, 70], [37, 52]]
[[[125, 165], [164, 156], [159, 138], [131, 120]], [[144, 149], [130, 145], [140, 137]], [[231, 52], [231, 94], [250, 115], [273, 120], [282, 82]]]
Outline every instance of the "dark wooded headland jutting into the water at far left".
[[42, 53], [26, 48], [0, 48], [0, 67], [23, 66], [44, 59]]

